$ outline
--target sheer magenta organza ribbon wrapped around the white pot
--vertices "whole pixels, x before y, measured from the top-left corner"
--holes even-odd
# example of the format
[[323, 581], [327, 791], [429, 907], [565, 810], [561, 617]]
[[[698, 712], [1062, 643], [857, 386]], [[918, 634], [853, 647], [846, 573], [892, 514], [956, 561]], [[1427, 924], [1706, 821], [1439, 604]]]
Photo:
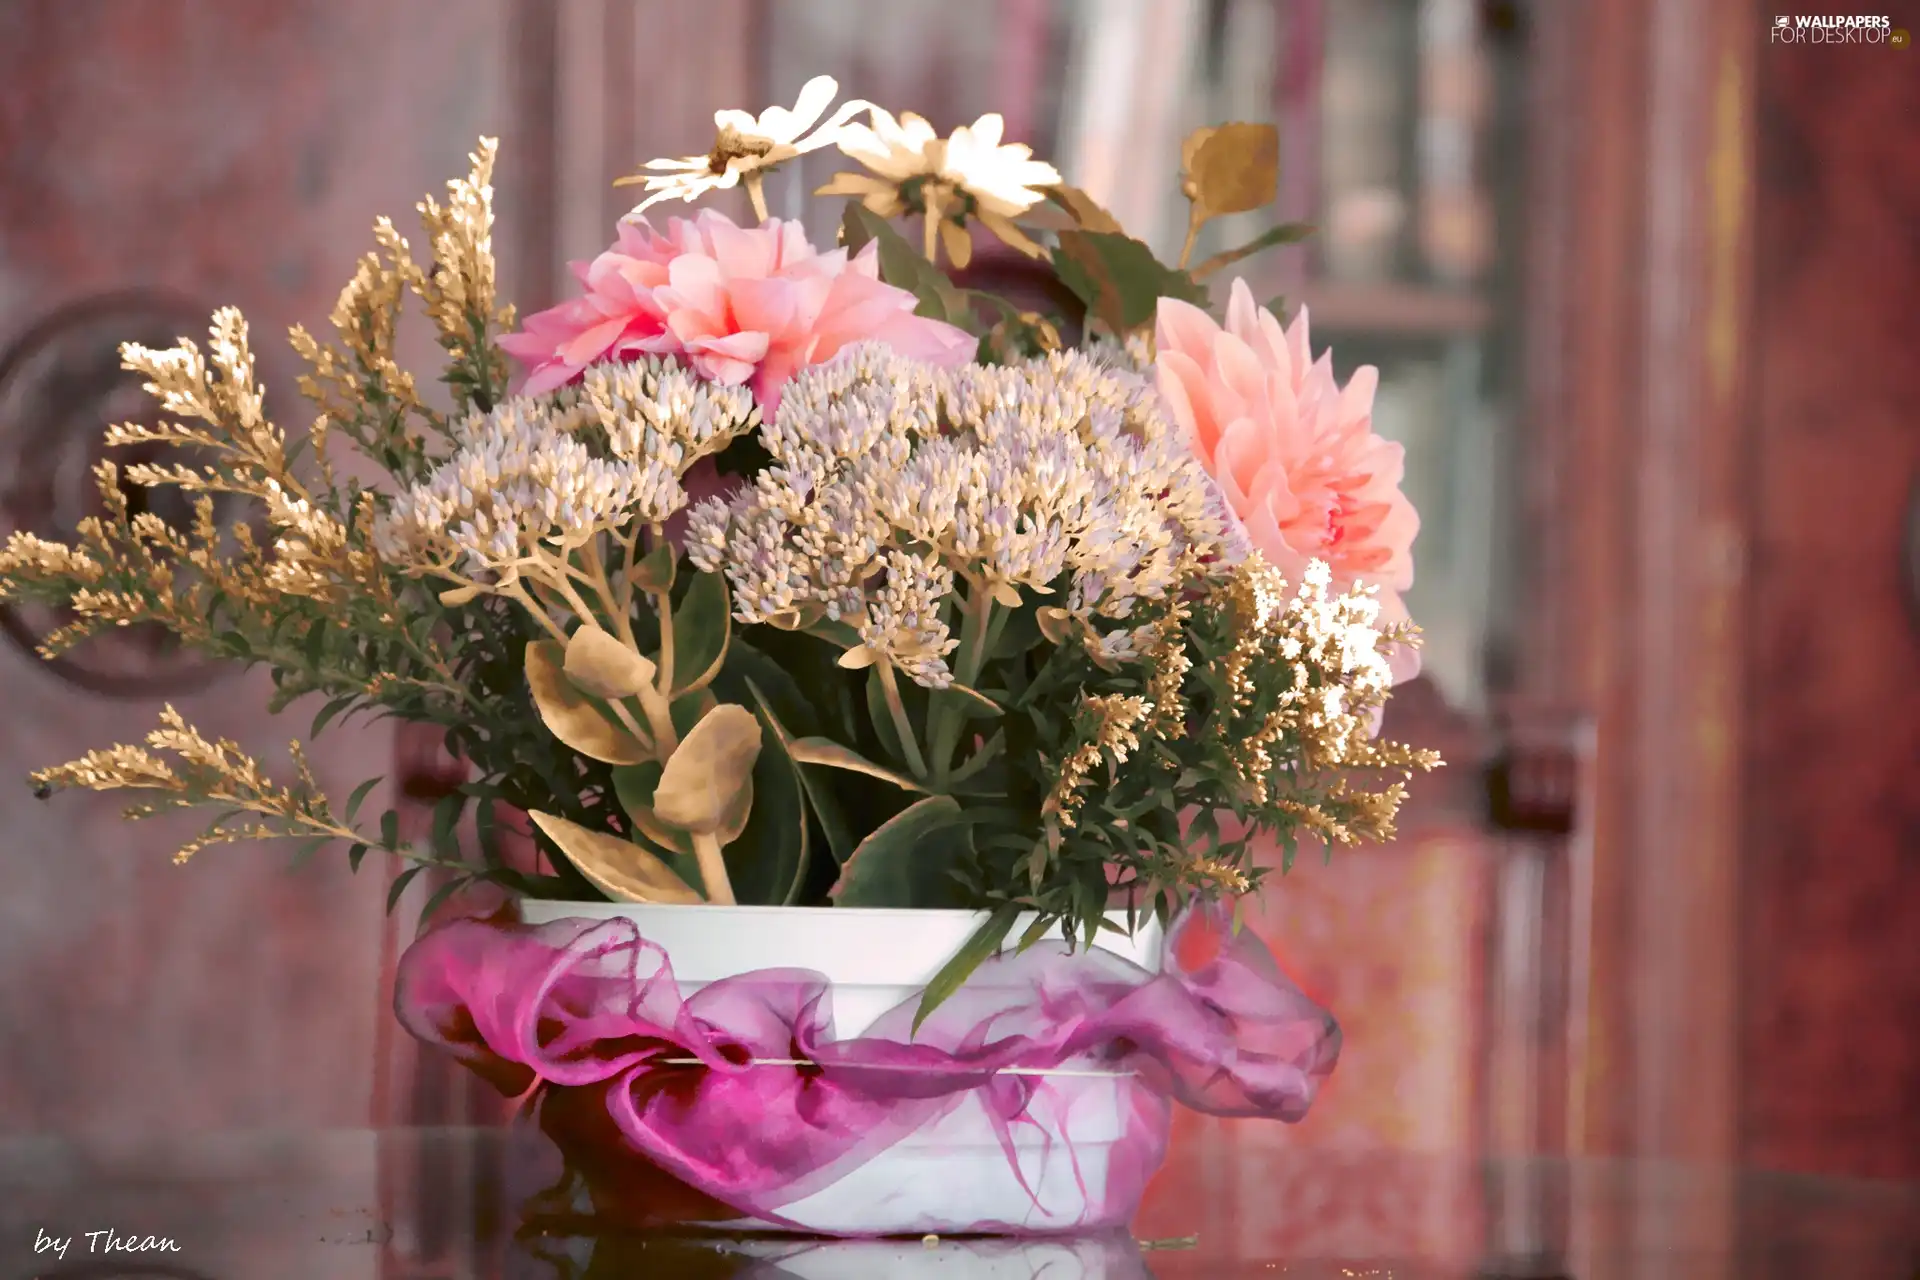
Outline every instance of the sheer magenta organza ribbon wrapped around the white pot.
[[444, 925], [401, 958], [394, 1004], [422, 1042], [538, 1103], [601, 1211], [636, 1226], [799, 1226], [783, 1207], [970, 1096], [1020, 1176], [1016, 1130], [1056, 1132], [1037, 1117], [1068, 1115], [1077, 1090], [1112, 1090], [1116, 1075], [1137, 1123], [1073, 1226], [1121, 1226], [1165, 1155], [1169, 1100], [1298, 1121], [1340, 1054], [1332, 1017], [1212, 910], [1173, 923], [1162, 973], [1058, 940], [1002, 952], [918, 1032], [914, 998], [837, 1040], [829, 983], [808, 969], [682, 994], [626, 919]]

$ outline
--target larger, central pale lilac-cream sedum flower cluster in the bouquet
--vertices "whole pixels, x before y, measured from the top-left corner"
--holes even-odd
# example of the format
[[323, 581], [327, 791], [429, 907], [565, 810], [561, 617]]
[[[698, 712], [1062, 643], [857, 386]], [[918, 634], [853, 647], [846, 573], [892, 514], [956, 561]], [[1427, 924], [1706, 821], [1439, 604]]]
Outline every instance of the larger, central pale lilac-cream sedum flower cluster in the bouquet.
[[847, 624], [854, 664], [929, 689], [952, 683], [958, 581], [1012, 606], [1058, 581], [1089, 624], [1240, 551], [1146, 378], [1085, 351], [939, 368], [862, 345], [795, 376], [762, 438], [772, 466], [693, 510], [693, 564], [741, 622]]

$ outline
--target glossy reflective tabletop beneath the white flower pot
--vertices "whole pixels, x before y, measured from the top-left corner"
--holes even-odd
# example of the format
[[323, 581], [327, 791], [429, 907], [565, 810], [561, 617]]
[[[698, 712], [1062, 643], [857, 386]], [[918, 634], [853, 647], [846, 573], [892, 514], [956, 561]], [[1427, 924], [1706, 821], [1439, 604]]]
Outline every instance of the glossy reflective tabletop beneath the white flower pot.
[[1912, 1184], [1334, 1153], [1279, 1126], [1185, 1128], [1112, 1238], [632, 1236], [557, 1215], [557, 1173], [524, 1130], [0, 1138], [0, 1280], [1920, 1276]]

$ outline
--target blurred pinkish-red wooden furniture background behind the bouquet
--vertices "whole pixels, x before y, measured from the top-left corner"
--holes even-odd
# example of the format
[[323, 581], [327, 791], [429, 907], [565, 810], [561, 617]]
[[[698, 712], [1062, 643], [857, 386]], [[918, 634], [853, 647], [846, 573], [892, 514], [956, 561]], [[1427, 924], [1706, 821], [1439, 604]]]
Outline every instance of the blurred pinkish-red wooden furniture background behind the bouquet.
[[[1914, 0], [1870, 12], [1920, 29]], [[1275, 883], [1258, 929], [1340, 1015], [1346, 1055], [1306, 1125], [1213, 1142], [1248, 1169], [1279, 1148], [1571, 1150], [1916, 1178], [1920, 54], [1782, 46], [1772, 17], [1741, 0], [13, 0], [0, 528], [84, 514], [98, 430], [129, 413], [111, 372], [129, 334], [242, 305], [275, 351], [269, 407], [298, 426], [273, 334], [324, 322], [372, 217], [405, 226], [482, 132], [501, 138], [503, 292], [532, 311], [611, 238], [630, 203], [614, 177], [822, 71], [943, 129], [1002, 111], [1162, 249], [1181, 136], [1277, 121], [1269, 221], [1321, 234], [1250, 274], [1311, 307], [1342, 372], [1380, 367], [1428, 635], [1388, 727], [1450, 768], [1396, 844]], [[781, 175], [774, 211], [829, 165]], [[981, 271], [1029, 288], [1020, 263]], [[263, 750], [305, 725], [255, 710], [263, 681], [138, 637], [46, 668], [13, 643], [46, 622], [6, 618], [4, 777], [127, 737], [161, 700]], [[334, 787], [386, 773], [415, 798], [440, 770], [432, 743], [382, 727], [330, 731], [315, 760]], [[413, 915], [382, 913], [388, 869], [290, 873], [267, 848], [177, 869], [171, 835], [0, 789], [0, 1132], [490, 1113], [396, 1038], [386, 975]], [[1382, 1184], [1273, 1230], [1465, 1257], [1484, 1194]], [[1148, 1213], [1265, 1230], [1206, 1186], [1158, 1188]]]

